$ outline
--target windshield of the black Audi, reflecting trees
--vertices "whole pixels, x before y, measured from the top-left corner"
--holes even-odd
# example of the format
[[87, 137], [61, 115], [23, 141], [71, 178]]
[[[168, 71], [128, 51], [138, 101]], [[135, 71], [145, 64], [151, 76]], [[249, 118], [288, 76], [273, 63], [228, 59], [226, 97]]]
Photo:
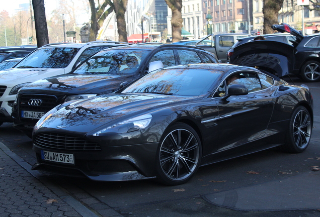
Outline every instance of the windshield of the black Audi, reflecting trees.
[[107, 50], [102, 51], [88, 59], [77, 67], [72, 73], [75, 74], [134, 74], [141, 61], [150, 50]]

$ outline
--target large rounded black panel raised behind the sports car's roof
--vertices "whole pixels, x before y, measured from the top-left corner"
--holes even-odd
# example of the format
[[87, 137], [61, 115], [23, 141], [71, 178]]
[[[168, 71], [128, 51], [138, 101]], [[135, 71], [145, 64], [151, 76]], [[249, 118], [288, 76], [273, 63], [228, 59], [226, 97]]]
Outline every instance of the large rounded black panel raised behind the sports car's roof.
[[230, 63], [276, 72], [282, 77], [293, 70], [294, 49], [291, 45], [276, 41], [247, 42], [234, 48]]

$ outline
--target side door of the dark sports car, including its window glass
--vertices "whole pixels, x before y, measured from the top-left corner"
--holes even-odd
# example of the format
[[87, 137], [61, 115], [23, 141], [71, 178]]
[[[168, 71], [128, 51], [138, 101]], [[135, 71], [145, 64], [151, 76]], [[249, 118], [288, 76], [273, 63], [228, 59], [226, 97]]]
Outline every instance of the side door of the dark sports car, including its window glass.
[[[241, 71], [237, 74], [240, 75], [240, 78], [227, 85], [229, 78], [227, 77], [222, 83], [219, 90], [225, 91], [222, 96], [227, 94], [232, 84], [245, 85], [249, 93], [229, 96], [227, 99], [213, 98], [218, 105], [220, 118], [216, 122], [220, 129], [219, 151], [247, 144], [263, 137], [273, 111], [274, 102], [268, 91], [268, 85], [260, 82], [257, 72]], [[215, 96], [221, 96], [221, 93]]]

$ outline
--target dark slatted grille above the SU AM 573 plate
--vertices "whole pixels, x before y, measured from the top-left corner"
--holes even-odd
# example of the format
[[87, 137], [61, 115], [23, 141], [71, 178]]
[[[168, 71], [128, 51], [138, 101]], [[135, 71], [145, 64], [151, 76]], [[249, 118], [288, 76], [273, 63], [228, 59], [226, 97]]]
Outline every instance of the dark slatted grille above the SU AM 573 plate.
[[68, 151], [99, 151], [97, 143], [85, 139], [57, 133], [41, 133], [34, 139], [35, 145], [43, 148], [53, 148]]

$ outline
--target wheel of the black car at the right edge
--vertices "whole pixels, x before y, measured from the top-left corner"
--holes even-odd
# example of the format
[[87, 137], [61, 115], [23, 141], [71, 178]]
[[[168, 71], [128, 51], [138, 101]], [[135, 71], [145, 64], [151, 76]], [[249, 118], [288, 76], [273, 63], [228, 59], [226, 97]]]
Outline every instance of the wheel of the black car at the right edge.
[[306, 62], [300, 69], [300, 75], [306, 82], [320, 80], [320, 63], [313, 60]]

